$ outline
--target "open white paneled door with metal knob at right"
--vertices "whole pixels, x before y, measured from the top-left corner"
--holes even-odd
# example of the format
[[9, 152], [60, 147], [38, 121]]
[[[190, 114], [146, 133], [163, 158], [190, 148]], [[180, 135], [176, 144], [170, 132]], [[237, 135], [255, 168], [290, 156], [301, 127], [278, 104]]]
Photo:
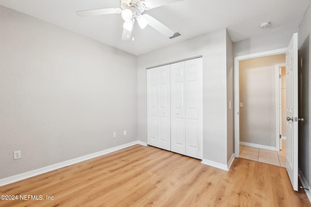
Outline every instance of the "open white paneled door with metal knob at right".
[[286, 170], [298, 191], [298, 38], [294, 33], [286, 51]]

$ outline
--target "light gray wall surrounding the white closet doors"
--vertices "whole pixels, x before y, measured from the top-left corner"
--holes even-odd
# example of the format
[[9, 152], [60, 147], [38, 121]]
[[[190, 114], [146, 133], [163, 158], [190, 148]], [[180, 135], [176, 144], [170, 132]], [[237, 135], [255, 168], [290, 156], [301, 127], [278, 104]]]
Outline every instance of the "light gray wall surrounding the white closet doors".
[[146, 142], [146, 68], [199, 55], [203, 55], [203, 158], [227, 164], [225, 29], [138, 56], [138, 138]]

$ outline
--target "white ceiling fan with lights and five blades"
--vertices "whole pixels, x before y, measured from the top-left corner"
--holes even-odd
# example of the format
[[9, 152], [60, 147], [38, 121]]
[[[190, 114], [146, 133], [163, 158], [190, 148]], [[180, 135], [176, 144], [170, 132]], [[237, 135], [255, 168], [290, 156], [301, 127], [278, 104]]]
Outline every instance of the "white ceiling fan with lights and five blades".
[[164, 6], [176, 1], [181, 0], [121, 0], [121, 8], [92, 9], [77, 11], [76, 14], [82, 17], [121, 14], [122, 19], [124, 20], [122, 40], [129, 40], [131, 38], [135, 19], [141, 29], [144, 29], [147, 25], [149, 25], [158, 32], [162, 33], [164, 36], [172, 38], [175, 36], [175, 32], [156, 20], [154, 17], [142, 13], [145, 10]]

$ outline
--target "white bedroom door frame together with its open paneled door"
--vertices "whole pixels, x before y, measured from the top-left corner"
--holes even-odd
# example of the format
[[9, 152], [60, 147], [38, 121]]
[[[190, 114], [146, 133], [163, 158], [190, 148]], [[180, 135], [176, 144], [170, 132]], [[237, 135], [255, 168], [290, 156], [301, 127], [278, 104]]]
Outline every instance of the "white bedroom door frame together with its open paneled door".
[[[298, 33], [294, 33], [287, 48], [265, 51], [234, 58], [234, 97], [235, 97], [235, 157], [240, 154], [240, 92], [239, 62], [256, 57], [286, 53], [286, 171], [294, 191], [298, 191]], [[279, 138], [279, 137], [278, 137]]]

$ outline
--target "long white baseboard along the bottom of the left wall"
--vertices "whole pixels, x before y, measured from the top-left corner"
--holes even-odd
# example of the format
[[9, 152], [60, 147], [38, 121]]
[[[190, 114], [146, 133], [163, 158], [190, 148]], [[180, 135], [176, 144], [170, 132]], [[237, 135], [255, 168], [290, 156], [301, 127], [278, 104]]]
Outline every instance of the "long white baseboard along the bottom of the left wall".
[[135, 141], [135, 142], [131, 142], [131, 143], [122, 144], [122, 145], [119, 145], [119, 146], [116, 146], [116, 147], [105, 149], [103, 151], [95, 152], [95, 153], [92, 153], [92, 154], [89, 154], [89, 155], [85, 155], [85, 156], [82, 156], [82, 157], [79, 157], [79, 158], [69, 159], [67, 161], [63, 161], [63, 162], [59, 162], [59, 163], [56, 163], [56, 164], [52, 164], [52, 165], [49, 165], [49, 166], [46, 166], [46, 167], [43, 167], [43, 168], [39, 168], [39, 169], [35, 169], [35, 170], [29, 171], [29, 172], [26, 172], [26, 173], [21, 173], [21, 174], [18, 174], [18, 175], [13, 175], [13, 176], [10, 176], [10, 177], [2, 178], [2, 179], [0, 179], [0, 186], [4, 186], [4, 185], [10, 184], [10, 183], [14, 183], [14, 182], [17, 182], [19, 180], [23, 180], [23, 179], [26, 179], [26, 178], [29, 178], [29, 177], [33, 177], [35, 175], [40, 175], [40, 174], [47, 173], [47, 172], [50, 172], [50, 171], [53, 171], [53, 170], [57, 170], [59, 168], [66, 167], [66, 166], [69, 166], [69, 165], [72, 165], [72, 164], [76, 164], [78, 162], [82, 162], [82, 161], [85, 161], [87, 159], [96, 158], [96, 157], [99, 157], [99, 156], [102, 156], [102, 155], [105, 155], [105, 154], [108, 154], [108, 153], [111, 153], [111, 152], [115, 152], [115, 151], [124, 149], [126, 147], [133, 146], [135, 144], [140, 144], [140, 145], [143, 145], [143, 146], [147, 145], [146, 143], [141, 142], [141, 141]]

